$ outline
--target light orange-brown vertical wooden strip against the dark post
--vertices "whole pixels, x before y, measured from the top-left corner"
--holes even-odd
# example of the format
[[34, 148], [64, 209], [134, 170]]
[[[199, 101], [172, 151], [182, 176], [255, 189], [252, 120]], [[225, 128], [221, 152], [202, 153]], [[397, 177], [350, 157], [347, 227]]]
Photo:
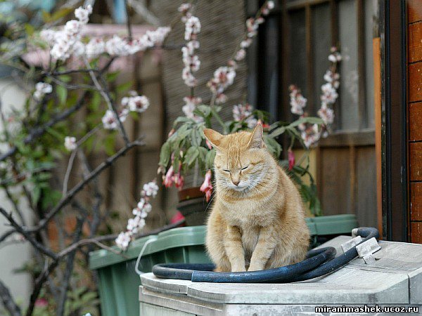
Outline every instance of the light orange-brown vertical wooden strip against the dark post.
[[381, 150], [381, 38], [372, 40], [373, 55], [373, 100], [375, 116], [375, 152], [376, 152], [376, 204], [378, 231], [383, 236], [383, 174]]

